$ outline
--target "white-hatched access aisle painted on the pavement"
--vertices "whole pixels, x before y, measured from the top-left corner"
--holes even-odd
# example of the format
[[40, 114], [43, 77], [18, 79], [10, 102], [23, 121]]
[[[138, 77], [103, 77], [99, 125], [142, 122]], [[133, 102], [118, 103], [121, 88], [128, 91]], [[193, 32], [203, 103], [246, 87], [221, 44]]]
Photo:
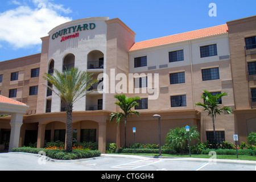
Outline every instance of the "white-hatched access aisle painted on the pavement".
[[113, 166], [112, 168], [121, 168], [121, 169], [137, 169], [139, 167], [148, 166], [151, 164], [161, 162], [160, 159], [146, 159], [146, 160], [138, 160], [136, 162], [121, 164], [118, 166]]

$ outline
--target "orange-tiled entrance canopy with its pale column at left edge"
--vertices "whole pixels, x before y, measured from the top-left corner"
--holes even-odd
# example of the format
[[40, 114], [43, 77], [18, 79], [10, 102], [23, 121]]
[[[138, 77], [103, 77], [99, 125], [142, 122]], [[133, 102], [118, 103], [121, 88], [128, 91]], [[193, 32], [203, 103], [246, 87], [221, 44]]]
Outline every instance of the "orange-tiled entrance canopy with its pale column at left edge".
[[0, 95], [0, 115], [11, 114], [9, 151], [19, 146], [20, 127], [23, 123], [23, 114], [26, 113], [28, 107], [22, 102]]

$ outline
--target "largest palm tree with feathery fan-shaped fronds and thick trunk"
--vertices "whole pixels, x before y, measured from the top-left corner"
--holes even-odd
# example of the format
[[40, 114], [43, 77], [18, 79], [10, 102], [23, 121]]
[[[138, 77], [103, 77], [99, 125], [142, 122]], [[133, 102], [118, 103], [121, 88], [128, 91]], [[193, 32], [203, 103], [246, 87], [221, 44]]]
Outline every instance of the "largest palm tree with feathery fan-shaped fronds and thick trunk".
[[66, 69], [63, 73], [54, 69], [55, 75], [52, 73], [44, 73], [43, 78], [50, 82], [56, 89], [46, 85], [49, 89], [57, 94], [67, 105], [67, 123], [65, 149], [67, 152], [72, 151], [72, 110], [73, 104], [84, 97], [87, 90], [96, 81], [92, 81], [92, 73], [81, 72], [78, 68]]

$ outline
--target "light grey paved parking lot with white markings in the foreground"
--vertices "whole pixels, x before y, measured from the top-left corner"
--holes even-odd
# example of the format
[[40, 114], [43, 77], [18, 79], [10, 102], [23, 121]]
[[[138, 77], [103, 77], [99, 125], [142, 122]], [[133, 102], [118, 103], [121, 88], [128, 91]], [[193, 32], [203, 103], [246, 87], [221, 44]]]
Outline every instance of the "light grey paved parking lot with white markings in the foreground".
[[93, 159], [52, 160], [36, 154], [0, 154], [1, 171], [255, 171], [255, 161], [150, 158], [108, 155]]

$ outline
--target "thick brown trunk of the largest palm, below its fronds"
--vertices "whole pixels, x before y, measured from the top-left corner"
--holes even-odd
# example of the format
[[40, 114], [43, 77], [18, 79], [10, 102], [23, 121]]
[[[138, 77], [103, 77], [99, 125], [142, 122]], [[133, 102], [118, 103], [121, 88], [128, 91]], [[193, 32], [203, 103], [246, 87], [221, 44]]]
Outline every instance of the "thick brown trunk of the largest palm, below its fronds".
[[67, 110], [65, 148], [67, 152], [72, 152], [72, 109], [70, 108]]

